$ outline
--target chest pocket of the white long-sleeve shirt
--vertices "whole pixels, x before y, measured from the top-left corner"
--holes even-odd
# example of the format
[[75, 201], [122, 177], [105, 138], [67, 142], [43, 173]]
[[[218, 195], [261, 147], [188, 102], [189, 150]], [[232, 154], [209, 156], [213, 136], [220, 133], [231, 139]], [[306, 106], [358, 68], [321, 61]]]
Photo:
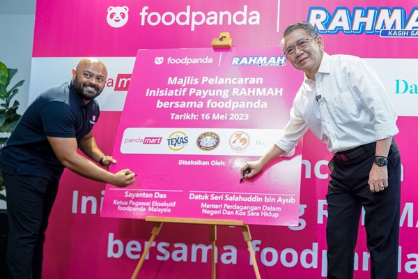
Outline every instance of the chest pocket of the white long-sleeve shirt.
[[355, 98], [353, 93], [346, 91], [328, 100], [330, 111], [334, 120], [338, 124], [349, 123], [359, 120], [359, 98]]

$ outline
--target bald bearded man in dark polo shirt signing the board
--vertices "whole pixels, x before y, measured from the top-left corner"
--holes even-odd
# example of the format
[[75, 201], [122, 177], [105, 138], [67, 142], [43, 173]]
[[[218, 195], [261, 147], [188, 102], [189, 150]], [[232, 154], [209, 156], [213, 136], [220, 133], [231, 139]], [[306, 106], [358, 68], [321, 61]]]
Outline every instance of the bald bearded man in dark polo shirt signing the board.
[[[29, 105], [1, 149], [10, 279], [42, 278], [45, 230], [65, 167], [117, 187], [135, 181], [130, 169], [108, 171], [116, 160], [100, 151], [93, 137], [92, 129], [100, 115], [95, 98], [102, 93], [106, 78], [102, 61], [80, 60], [72, 69], [70, 82], [48, 89]], [[81, 156], [78, 149], [96, 163]]]

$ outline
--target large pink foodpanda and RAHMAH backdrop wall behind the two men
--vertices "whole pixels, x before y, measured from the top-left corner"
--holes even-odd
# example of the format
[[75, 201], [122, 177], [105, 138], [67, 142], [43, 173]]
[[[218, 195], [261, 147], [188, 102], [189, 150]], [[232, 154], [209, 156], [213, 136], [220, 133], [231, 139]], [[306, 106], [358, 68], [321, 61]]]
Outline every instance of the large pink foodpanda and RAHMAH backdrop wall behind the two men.
[[[121, 21], [116, 22], [116, 13], [113, 13], [126, 11], [123, 7], [127, 7], [128, 16], [122, 15]], [[219, 15], [226, 12], [231, 13], [231, 22], [226, 19], [219, 22]], [[376, 17], [374, 12], [378, 13]], [[393, 24], [382, 27], [379, 19], [385, 18], [387, 13], [394, 15], [391, 17]], [[385, 1], [383, 6], [377, 0], [350, 1], [349, 5], [344, 1], [321, 0], [104, 0], [91, 3], [38, 0], [32, 67], [33, 77], [37, 78], [31, 79], [30, 94], [40, 93], [47, 82], [56, 85], [68, 80], [70, 67], [75, 64], [67, 67], [68, 75], [58, 76], [54, 76], [54, 66], [61, 69], [68, 65], [65, 61], [77, 61], [79, 57], [99, 56], [110, 61], [107, 63], [109, 73], [130, 74], [133, 63], [126, 66], [118, 61], [134, 60], [138, 49], [210, 47], [212, 38], [222, 31], [231, 33], [233, 45], [237, 47], [277, 45], [288, 24], [316, 18], [317, 27], [323, 28], [325, 51], [368, 59], [379, 75], [385, 77], [389, 98], [396, 103], [401, 130], [396, 140], [403, 155], [399, 278], [416, 278], [418, 244], [414, 239], [418, 226], [418, 192], [414, 168], [418, 132], [415, 130], [416, 110], [411, 106], [416, 102], [418, 80], [410, 65], [416, 65], [418, 57], [408, 47], [416, 45], [417, 38], [385, 38], [379, 33], [380, 29], [417, 29], [417, 14], [415, 1], [409, 0], [403, 1], [402, 6], [397, 1]], [[176, 17], [177, 22], [173, 21]], [[318, 20], [322, 18], [328, 21]], [[355, 22], [367, 23], [357, 26]], [[118, 67], [125, 68], [119, 70]], [[43, 73], [47, 82], [38, 79], [38, 73]], [[51, 73], [54, 78], [45, 73]], [[116, 75], [114, 77], [116, 80]], [[408, 85], [400, 89], [401, 82]], [[121, 119], [121, 110], [115, 110], [112, 103], [123, 104], [126, 92], [109, 84], [104, 96], [100, 96], [102, 114], [94, 134], [104, 153], [111, 154]], [[325, 193], [329, 159], [325, 146], [307, 133], [302, 151], [300, 225], [251, 226], [262, 278], [325, 276]], [[104, 187], [103, 183], [65, 171], [47, 230], [44, 278], [130, 278], [132, 275], [153, 224], [143, 220], [101, 218]], [[360, 231], [357, 279], [369, 278], [364, 227], [360, 227]], [[164, 225], [140, 275], [164, 279], [209, 276], [210, 252], [196, 250], [209, 244], [208, 227]], [[253, 273], [240, 229], [219, 227], [217, 250], [218, 278], [248, 278]]]

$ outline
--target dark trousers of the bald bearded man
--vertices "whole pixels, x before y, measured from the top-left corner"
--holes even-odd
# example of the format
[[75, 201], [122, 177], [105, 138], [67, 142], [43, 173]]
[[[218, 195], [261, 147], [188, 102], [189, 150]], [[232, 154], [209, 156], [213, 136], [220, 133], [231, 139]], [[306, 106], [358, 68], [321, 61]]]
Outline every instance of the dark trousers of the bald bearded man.
[[43, 244], [58, 181], [3, 174], [7, 193], [8, 278], [42, 278]]

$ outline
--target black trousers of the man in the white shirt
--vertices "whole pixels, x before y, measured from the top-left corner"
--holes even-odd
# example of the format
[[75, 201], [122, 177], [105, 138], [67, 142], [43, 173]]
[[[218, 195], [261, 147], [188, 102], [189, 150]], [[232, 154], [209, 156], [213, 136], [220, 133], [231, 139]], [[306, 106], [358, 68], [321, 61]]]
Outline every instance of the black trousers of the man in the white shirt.
[[387, 165], [389, 186], [371, 193], [368, 181], [375, 152], [373, 148], [353, 160], [334, 156], [330, 161], [331, 179], [327, 193], [329, 279], [353, 278], [362, 207], [366, 211], [364, 226], [371, 258], [371, 279], [398, 278], [401, 156], [393, 141]]

